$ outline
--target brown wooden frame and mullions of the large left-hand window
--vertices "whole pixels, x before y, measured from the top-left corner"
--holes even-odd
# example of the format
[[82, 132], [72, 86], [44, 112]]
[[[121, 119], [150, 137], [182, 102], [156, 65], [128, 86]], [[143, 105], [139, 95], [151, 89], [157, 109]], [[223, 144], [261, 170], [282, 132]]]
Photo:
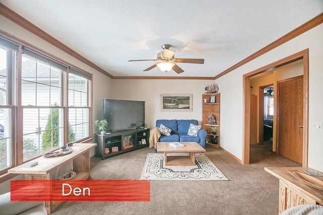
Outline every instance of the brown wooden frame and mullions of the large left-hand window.
[[[12, 115], [11, 115], [11, 127], [12, 127], [12, 151], [11, 151], [11, 166], [7, 167], [5, 169], [0, 170], [0, 183], [6, 179], [8, 180], [8, 177], [14, 177], [12, 174], [8, 174], [7, 171], [8, 169], [11, 169], [15, 166], [21, 165], [25, 162], [28, 162], [30, 160], [33, 160], [35, 158], [38, 158], [40, 156], [37, 156], [35, 158], [32, 158], [30, 160], [26, 160], [23, 161], [23, 144], [18, 144], [18, 142], [23, 142], [23, 106], [21, 104], [21, 98], [22, 98], [22, 94], [21, 94], [21, 81], [22, 81], [22, 76], [21, 76], [21, 70], [22, 70], [22, 53], [23, 53], [23, 48], [24, 47], [28, 47], [29, 50], [32, 50], [40, 55], [43, 55], [45, 58], [48, 58], [50, 60], [53, 61], [57, 61], [59, 63], [65, 64], [68, 68], [72, 67], [73, 70], [75, 70], [77, 72], [77, 75], [82, 75], [82, 77], [85, 77], [87, 79], [87, 85], [88, 85], [88, 91], [87, 91], [87, 108], [88, 108], [88, 136], [79, 139], [75, 142], [90, 142], [93, 139], [93, 125], [92, 125], [92, 74], [88, 73], [87, 71], [71, 64], [68, 63], [62, 59], [59, 59], [29, 43], [26, 43], [23, 40], [20, 40], [18, 38], [12, 37], [11, 35], [7, 35], [4, 33], [0, 34], [0, 44], [8, 47], [6, 45], [3, 44], [3, 42], [8, 42], [7, 44], [9, 45], [13, 45], [14, 47], [18, 47], [18, 51], [17, 51], [17, 57], [15, 59], [15, 63], [16, 63], [16, 68], [11, 68], [15, 70], [15, 75], [17, 78], [14, 78], [14, 76], [12, 76], [12, 82], [11, 87], [12, 89], [10, 90], [12, 93], [12, 103], [10, 105], [0, 105], [0, 108], [10, 108]], [[8, 47], [10, 48], [10, 47]], [[8, 69], [8, 68], [7, 68]], [[10, 73], [8, 73], [10, 74]], [[63, 76], [62, 79], [64, 80], [63, 86], [62, 86], [62, 90], [63, 90], [63, 103], [60, 106], [60, 108], [63, 109], [63, 125], [64, 125], [64, 144], [63, 145], [67, 145], [68, 144], [68, 131], [69, 131], [69, 118], [68, 118], [68, 70], [66, 72], [63, 72]], [[8, 175], [12, 175], [12, 176], [8, 176]]]

